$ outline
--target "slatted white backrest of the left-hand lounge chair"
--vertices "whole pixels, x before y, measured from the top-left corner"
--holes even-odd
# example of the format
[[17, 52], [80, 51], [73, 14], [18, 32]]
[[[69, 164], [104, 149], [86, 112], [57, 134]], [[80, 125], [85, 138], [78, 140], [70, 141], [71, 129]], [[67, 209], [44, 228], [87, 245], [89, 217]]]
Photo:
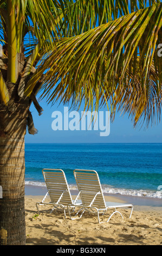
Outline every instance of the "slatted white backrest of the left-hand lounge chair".
[[[61, 169], [43, 169], [44, 180], [52, 203], [72, 204], [72, 196], [67, 183], [66, 175]], [[62, 194], [63, 193], [63, 194]]]

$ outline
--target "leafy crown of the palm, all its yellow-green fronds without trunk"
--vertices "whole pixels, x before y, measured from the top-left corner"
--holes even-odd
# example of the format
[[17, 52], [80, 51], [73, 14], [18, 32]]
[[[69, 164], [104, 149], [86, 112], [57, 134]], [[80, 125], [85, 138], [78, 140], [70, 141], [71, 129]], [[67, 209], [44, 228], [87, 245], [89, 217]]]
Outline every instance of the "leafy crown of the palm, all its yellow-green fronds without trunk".
[[[15, 6], [16, 53], [27, 57], [18, 80], [20, 97], [32, 97], [43, 76], [42, 97], [48, 102], [72, 100], [80, 106], [84, 101], [85, 108], [95, 109], [110, 105], [112, 118], [118, 109], [135, 124], [141, 117], [146, 123], [155, 113], [159, 117], [160, 0], [4, 0], [0, 41], [6, 45], [9, 2]], [[9, 66], [15, 74], [10, 60]]]

